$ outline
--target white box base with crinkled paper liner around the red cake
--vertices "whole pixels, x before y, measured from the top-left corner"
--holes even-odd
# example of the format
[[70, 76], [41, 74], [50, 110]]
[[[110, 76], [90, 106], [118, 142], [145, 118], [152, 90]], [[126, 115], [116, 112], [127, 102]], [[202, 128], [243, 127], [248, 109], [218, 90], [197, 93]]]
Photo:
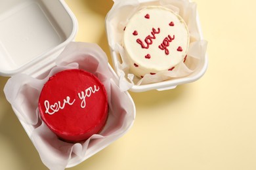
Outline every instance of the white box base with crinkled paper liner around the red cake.
[[[117, 86], [117, 77], [108, 64], [106, 54], [96, 44], [71, 42], [56, 59], [56, 67], [45, 78], [15, 75], [4, 92], [14, 112], [32, 139], [41, 160], [49, 169], [64, 169], [86, 160], [108, 146], [132, 126], [135, 106], [127, 92]], [[66, 143], [45, 125], [39, 116], [37, 103], [43, 84], [50, 76], [65, 69], [83, 69], [96, 75], [108, 93], [108, 120], [99, 134], [83, 143]]]

